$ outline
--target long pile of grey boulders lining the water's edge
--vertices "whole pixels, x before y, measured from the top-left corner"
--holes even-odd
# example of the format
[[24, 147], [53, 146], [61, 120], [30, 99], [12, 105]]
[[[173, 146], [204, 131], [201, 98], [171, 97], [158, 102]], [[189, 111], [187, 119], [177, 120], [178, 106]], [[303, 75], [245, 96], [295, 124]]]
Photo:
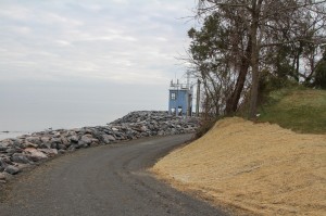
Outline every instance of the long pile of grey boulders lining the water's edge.
[[106, 126], [34, 132], [0, 141], [0, 183], [24, 167], [57, 154], [77, 149], [110, 144], [141, 137], [195, 132], [197, 118], [184, 118], [161, 111], [139, 111]]

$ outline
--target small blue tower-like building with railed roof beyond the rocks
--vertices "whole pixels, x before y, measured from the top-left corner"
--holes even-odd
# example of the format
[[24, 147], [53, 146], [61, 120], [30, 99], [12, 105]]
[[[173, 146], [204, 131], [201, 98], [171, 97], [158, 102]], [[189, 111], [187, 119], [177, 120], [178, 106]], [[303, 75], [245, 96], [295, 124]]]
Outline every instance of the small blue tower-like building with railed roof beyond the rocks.
[[188, 84], [171, 81], [168, 90], [168, 113], [178, 116], [192, 114], [192, 87]]

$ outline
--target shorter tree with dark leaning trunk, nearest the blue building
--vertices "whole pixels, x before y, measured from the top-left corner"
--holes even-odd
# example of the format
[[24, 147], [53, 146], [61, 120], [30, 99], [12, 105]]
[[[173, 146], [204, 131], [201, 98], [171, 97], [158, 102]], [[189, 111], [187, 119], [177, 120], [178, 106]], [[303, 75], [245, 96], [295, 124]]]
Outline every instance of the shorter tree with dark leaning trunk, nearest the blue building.
[[[240, 18], [236, 13], [225, 13]], [[216, 115], [235, 113], [250, 65], [251, 42], [243, 24], [230, 25], [213, 13], [204, 18], [200, 30], [192, 28], [188, 35], [192, 41], [185, 60], [203, 84], [205, 111], [214, 110]], [[208, 109], [209, 102], [216, 109]]]

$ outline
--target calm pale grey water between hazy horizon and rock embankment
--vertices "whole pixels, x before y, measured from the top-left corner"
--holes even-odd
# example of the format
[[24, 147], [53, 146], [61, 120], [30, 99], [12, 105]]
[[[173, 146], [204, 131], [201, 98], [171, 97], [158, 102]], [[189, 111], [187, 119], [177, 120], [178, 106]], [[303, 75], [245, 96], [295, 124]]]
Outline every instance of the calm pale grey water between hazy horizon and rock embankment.
[[10, 131], [0, 132], [4, 139], [48, 128], [101, 126], [133, 111], [167, 110], [167, 88], [85, 80], [10, 84], [0, 79], [0, 131]]

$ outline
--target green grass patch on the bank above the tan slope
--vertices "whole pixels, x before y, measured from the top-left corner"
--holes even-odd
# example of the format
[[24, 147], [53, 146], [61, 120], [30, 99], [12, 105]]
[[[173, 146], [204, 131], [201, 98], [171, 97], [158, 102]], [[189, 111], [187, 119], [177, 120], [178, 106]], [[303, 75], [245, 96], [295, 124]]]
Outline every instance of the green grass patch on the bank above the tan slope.
[[260, 107], [259, 122], [278, 124], [296, 132], [326, 134], [326, 91], [283, 89]]

